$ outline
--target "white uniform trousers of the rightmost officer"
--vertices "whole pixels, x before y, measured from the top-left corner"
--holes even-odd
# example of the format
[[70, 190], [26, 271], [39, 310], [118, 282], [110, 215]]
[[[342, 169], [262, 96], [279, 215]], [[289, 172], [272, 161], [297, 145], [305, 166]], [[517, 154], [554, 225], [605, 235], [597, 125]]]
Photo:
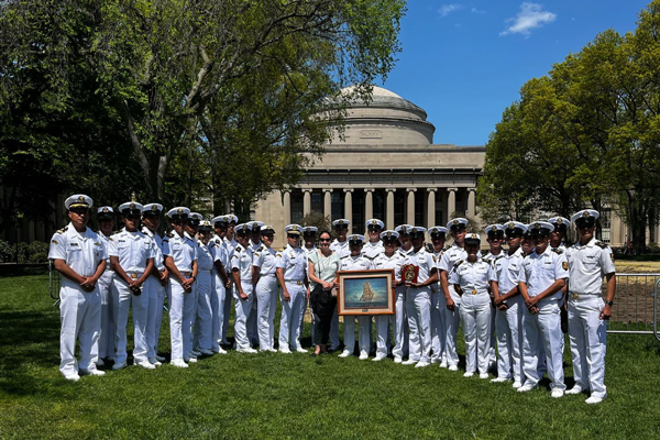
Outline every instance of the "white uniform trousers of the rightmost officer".
[[569, 340], [575, 385], [593, 397], [607, 397], [605, 351], [607, 321], [600, 319], [605, 302], [600, 295], [573, 299], [569, 294]]

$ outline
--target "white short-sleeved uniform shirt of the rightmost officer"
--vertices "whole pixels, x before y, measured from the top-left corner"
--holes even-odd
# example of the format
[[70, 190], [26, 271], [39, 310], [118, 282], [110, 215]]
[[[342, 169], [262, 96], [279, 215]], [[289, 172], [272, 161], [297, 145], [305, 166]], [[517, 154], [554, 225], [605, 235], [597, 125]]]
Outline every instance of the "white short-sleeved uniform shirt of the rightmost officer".
[[575, 294], [597, 294], [603, 292], [603, 277], [615, 273], [612, 249], [605, 243], [592, 239], [585, 245], [580, 242], [566, 251], [569, 290]]

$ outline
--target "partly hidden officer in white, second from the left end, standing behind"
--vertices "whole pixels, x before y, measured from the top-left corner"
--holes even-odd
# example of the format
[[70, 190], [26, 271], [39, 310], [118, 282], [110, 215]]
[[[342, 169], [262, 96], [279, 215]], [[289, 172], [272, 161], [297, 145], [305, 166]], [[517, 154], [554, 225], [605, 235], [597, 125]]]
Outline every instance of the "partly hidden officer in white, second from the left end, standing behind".
[[[106, 248], [110, 246], [110, 235], [112, 235], [114, 228], [114, 210], [112, 207], [105, 206], [100, 207], [97, 211], [97, 219], [99, 221], [99, 239]], [[101, 333], [99, 334], [99, 359], [97, 360], [97, 366], [105, 365], [103, 359], [112, 360], [114, 358], [114, 312], [112, 311], [112, 279], [114, 278], [114, 271], [110, 267], [110, 258], [106, 260], [106, 272], [99, 278], [99, 293], [101, 295]]]

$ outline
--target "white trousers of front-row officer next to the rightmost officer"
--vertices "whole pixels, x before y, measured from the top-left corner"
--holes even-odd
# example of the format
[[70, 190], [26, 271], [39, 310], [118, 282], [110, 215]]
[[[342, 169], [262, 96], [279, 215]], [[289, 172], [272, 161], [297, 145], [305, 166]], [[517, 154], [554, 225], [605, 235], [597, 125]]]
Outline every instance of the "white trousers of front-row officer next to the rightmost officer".
[[525, 326], [525, 341], [522, 344], [522, 365], [527, 376], [525, 383], [538, 384], [541, 378], [539, 359], [542, 356], [541, 346], [546, 351], [546, 366], [550, 387], [565, 389], [563, 376], [563, 333], [559, 305], [556, 299], [543, 299], [537, 305], [539, 312], [531, 315], [527, 310], [522, 322]]

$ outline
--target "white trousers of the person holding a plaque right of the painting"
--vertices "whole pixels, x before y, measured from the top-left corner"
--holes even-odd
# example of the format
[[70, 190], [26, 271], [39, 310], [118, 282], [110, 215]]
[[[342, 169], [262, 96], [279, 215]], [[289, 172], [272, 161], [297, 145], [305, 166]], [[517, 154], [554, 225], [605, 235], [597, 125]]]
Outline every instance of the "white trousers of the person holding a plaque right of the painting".
[[431, 360], [431, 288], [408, 287], [406, 311], [410, 328], [409, 359], [419, 362]]

